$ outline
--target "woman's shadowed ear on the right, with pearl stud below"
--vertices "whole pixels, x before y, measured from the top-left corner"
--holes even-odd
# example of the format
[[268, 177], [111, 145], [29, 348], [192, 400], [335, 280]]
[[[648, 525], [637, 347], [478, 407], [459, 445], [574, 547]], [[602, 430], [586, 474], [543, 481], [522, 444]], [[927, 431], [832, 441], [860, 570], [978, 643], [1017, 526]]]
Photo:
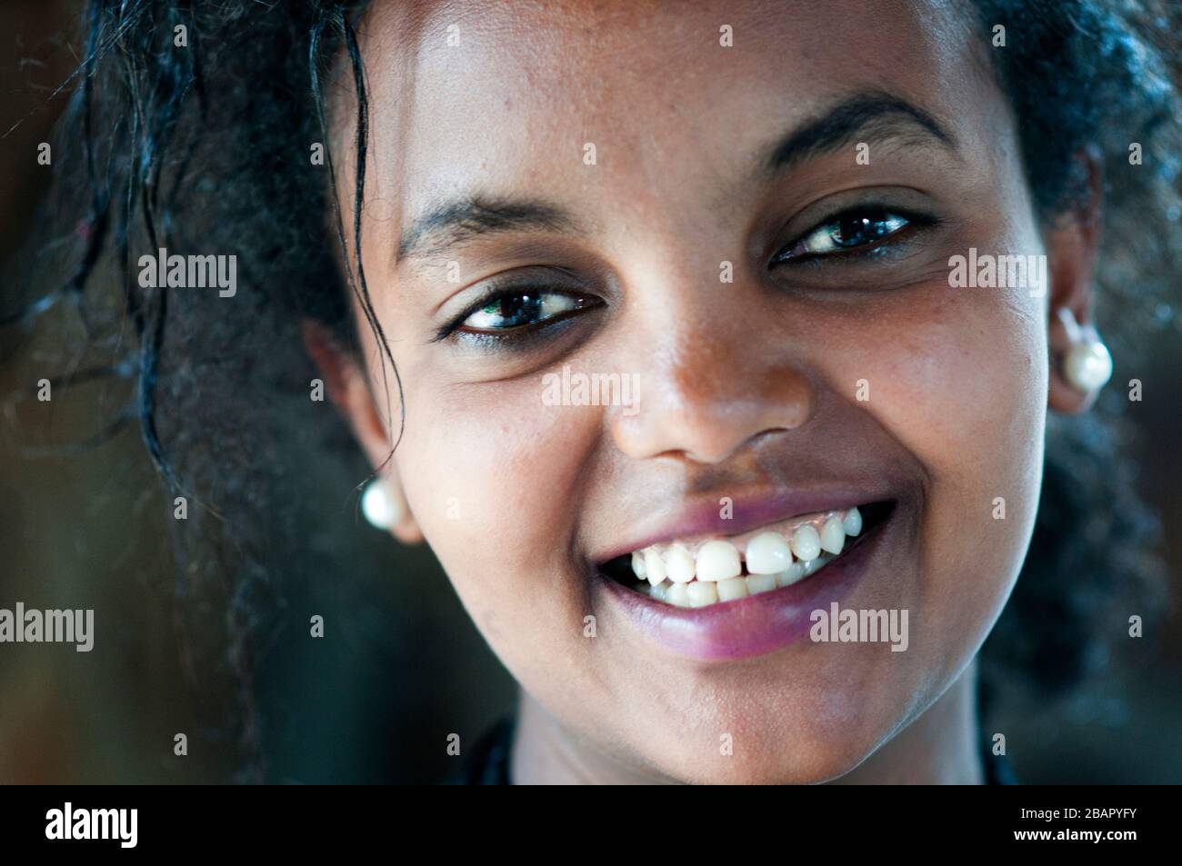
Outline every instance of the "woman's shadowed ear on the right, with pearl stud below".
[[1064, 378], [1061, 363], [1072, 346], [1071, 337], [1058, 314], [1066, 307], [1086, 332], [1092, 327], [1093, 271], [1099, 248], [1103, 181], [1098, 155], [1086, 152], [1079, 161], [1087, 174], [1087, 202], [1065, 215], [1046, 235], [1050, 304], [1047, 305], [1047, 343], [1051, 351], [1051, 376], [1047, 405], [1057, 412], [1077, 415], [1091, 408], [1097, 392], [1084, 393]]

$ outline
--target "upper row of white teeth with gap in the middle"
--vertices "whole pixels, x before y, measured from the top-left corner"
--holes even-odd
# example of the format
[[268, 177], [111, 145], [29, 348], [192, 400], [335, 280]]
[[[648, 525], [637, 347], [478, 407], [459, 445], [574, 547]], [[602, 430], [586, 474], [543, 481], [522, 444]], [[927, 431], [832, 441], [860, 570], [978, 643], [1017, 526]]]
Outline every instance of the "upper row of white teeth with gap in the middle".
[[812, 523], [798, 526], [791, 535], [762, 532], [747, 542], [742, 558], [739, 548], [725, 539], [704, 542], [696, 556], [686, 545], [676, 542], [664, 552], [650, 546], [632, 554], [632, 572], [652, 586], [665, 579], [674, 584], [688, 584], [695, 578], [719, 581], [742, 574], [742, 559], [746, 559], [749, 574], [779, 574], [792, 565], [793, 556], [810, 562], [823, 551], [840, 553], [845, 536], [860, 532], [862, 513], [851, 508], [845, 514], [827, 515], [819, 532]]

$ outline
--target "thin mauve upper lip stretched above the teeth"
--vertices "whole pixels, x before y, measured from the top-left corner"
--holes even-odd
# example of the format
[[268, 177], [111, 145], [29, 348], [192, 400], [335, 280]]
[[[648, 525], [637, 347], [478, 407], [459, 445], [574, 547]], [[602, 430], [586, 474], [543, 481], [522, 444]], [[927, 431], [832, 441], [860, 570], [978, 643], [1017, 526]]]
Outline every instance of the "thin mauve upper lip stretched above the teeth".
[[[723, 516], [723, 497], [730, 500], [729, 517]], [[658, 522], [656, 528], [638, 533], [597, 553], [592, 556], [592, 561], [602, 566], [617, 556], [641, 551], [650, 545], [686, 540], [696, 535], [739, 535], [790, 517], [817, 512], [845, 510], [890, 499], [894, 496], [886, 490], [860, 487], [759, 490], [743, 496], [720, 490], [716, 495], [696, 499], [670, 519]]]

